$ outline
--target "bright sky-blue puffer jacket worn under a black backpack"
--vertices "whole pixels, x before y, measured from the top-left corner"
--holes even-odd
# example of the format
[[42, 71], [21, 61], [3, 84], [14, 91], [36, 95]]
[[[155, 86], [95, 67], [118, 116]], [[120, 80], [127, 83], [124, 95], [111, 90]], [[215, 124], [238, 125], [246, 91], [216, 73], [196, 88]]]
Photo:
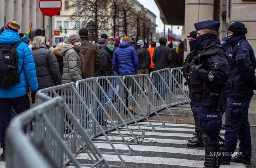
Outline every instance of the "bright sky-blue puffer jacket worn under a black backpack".
[[[0, 43], [3, 45], [11, 46], [18, 41], [20, 41], [20, 35], [16, 31], [5, 30], [0, 35]], [[23, 66], [20, 74], [20, 83], [17, 83], [12, 87], [0, 89], [0, 98], [14, 98], [23, 96], [27, 94], [28, 86], [32, 92], [38, 90], [36, 66], [29, 47], [26, 43], [20, 43], [16, 49], [18, 52], [19, 71]]]

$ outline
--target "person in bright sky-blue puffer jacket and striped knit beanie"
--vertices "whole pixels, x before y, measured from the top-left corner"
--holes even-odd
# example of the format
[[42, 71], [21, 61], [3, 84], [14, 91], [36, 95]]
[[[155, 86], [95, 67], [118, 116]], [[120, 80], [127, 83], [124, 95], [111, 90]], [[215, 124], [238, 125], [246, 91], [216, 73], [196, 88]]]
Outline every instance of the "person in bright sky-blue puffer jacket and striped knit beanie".
[[[9, 21], [5, 25], [5, 30], [0, 35], [0, 43], [2, 45], [11, 46], [20, 41], [18, 30], [19, 23]], [[0, 89], [0, 141], [3, 153], [1, 158], [5, 158], [5, 132], [11, 120], [11, 106], [14, 107], [17, 114], [30, 108], [28, 87], [32, 92], [38, 90], [36, 78], [36, 66], [30, 49], [26, 43], [21, 42], [17, 48], [18, 53], [18, 69], [22, 70], [20, 74], [20, 82], [12, 87]], [[23, 67], [23, 69], [22, 69]]]

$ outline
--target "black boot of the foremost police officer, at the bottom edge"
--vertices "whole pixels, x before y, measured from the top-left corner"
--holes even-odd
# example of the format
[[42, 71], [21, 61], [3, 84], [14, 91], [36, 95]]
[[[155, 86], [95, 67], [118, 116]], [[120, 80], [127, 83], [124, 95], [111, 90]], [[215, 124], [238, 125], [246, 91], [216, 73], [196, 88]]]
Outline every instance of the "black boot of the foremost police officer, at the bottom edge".
[[205, 147], [205, 168], [219, 168], [221, 164], [221, 150], [211, 149], [212, 147]]

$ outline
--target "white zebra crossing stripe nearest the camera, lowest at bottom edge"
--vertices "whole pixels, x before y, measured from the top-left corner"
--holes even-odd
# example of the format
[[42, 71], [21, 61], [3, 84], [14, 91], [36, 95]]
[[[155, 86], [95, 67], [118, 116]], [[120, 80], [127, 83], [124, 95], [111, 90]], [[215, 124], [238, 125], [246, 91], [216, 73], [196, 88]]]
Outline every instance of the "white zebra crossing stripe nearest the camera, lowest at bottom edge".
[[[106, 161], [119, 161], [117, 155], [103, 154]], [[126, 163], [142, 163], [142, 164], [163, 164], [163, 165], [175, 165], [175, 166], [187, 166], [187, 167], [203, 167], [204, 161], [195, 161], [188, 159], [177, 158], [160, 158], [160, 157], [147, 157], [147, 156], [130, 156], [122, 155], [122, 158]], [[76, 159], [89, 160], [86, 153], [80, 153]], [[245, 168], [244, 164], [231, 163], [230, 165], [222, 165], [221, 168]]]

